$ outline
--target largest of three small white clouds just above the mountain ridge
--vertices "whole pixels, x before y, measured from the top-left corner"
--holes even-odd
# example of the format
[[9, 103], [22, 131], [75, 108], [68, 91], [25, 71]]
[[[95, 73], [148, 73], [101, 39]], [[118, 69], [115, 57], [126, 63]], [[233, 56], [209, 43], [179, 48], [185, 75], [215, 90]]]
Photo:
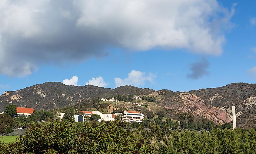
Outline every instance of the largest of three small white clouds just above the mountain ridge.
[[144, 86], [145, 81], [153, 82], [153, 79], [155, 78], [155, 74], [152, 73], [145, 73], [141, 71], [132, 70], [128, 77], [125, 79], [120, 79], [118, 77], [115, 78], [115, 86], [125, 86], [125, 85], [132, 85], [132, 86]]

